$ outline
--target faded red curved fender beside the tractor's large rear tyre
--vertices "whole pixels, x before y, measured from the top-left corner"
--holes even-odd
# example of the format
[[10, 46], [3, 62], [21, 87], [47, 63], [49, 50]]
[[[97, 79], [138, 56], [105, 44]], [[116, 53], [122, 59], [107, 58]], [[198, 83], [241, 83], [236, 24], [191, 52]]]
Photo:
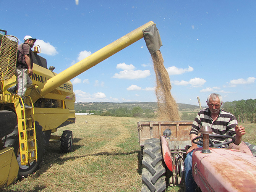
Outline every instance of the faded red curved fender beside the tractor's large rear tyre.
[[161, 136], [161, 146], [165, 165], [170, 171], [173, 171], [172, 153], [168, 141], [163, 136]]

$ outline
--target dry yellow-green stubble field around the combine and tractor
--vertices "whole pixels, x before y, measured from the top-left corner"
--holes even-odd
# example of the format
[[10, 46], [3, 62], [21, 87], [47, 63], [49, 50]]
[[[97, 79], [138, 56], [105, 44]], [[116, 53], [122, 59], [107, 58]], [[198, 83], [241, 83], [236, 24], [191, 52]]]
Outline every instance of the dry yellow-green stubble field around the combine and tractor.
[[[61, 153], [60, 144], [45, 147], [40, 169], [17, 181], [3, 192], [139, 192], [138, 121], [136, 119], [107, 116], [76, 116], [76, 124], [58, 129], [73, 131], [73, 151]], [[88, 123], [85, 123], [87, 121]], [[256, 144], [256, 124], [246, 127], [244, 141]], [[170, 187], [168, 192], [178, 192]]]

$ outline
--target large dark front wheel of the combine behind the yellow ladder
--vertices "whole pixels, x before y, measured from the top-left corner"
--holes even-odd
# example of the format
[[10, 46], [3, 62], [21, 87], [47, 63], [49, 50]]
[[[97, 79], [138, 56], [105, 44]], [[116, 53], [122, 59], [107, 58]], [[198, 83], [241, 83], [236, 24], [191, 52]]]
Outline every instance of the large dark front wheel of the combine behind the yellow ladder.
[[18, 173], [18, 179], [21, 179], [22, 177], [26, 177], [29, 174], [34, 173], [37, 168], [39, 167], [39, 164], [43, 160], [43, 153], [44, 153], [44, 142], [43, 142], [43, 136], [42, 136], [42, 126], [39, 125], [37, 121], [35, 121], [36, 125], [36, 142], [37, 142], [37, 161], [32, 161], [28, 165], [21, 165], [21, 158], [20, 158], [20, 152], [19, 152], [19, 143], [16, 150], [16, 157], [19, 164], [19, 173]]

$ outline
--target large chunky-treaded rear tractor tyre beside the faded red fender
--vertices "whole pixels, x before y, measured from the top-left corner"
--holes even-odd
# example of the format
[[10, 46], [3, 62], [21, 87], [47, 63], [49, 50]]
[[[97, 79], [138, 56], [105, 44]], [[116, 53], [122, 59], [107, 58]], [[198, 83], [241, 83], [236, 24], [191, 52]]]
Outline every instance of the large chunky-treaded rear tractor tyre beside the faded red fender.
[[165, 191], [165, 168], [159, 139], [152, 138], [144, 142], [141, 177], [141, 192]]

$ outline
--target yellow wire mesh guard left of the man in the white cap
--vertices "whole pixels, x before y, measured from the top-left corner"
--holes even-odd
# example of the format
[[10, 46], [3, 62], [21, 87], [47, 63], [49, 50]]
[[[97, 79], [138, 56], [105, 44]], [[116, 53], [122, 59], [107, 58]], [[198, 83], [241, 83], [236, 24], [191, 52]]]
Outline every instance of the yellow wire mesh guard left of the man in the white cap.
[[18, 39], [5, 35], [0, 48], [0, 80], [10, 79], [16, 68]]

